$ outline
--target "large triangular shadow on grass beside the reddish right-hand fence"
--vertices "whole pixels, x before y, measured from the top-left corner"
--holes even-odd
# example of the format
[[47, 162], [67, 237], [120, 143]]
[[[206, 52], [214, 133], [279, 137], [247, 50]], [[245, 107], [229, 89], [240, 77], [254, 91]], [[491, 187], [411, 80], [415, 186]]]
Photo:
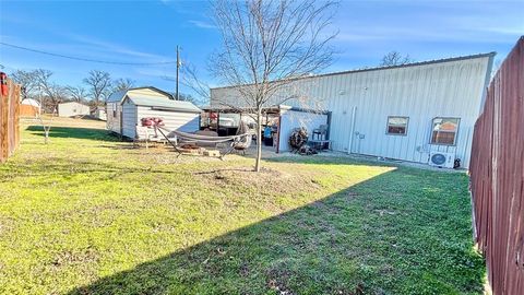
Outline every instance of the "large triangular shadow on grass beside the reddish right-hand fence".
[[425, 174], [376, 176], [70, 294], [480, 294], [467, 181]]

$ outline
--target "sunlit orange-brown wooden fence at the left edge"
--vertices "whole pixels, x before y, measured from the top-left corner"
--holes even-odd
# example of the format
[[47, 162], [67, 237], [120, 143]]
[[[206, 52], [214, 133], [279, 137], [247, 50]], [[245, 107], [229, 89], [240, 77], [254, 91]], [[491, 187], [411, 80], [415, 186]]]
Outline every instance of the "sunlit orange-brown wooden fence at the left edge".
[[8, 79], [7, 86], [7, 95], [0, 92], [0, 163], [14, 153], [20, 142], [20, 85]]

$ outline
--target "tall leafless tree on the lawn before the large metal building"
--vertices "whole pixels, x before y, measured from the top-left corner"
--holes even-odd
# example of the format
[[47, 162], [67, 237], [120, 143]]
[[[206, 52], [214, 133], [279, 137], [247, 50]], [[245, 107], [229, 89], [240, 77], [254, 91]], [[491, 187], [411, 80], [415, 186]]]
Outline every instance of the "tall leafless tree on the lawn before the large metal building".
[[[289, 84], [325, 69], [333, 59], [329, 42], [336, 2], [315, 0], [217, 0], [215, 23], [222, 34], [222, 50], [213, 57], [211, 71], [236, 85], [238, 101], [254, 114], [257, 134], [262, 133], [263, 107], [296, 99]], [[278, 95], [275, 95], [278, 92]], [[254, 170], [260, 172], [262, 145], [257, 144]]]

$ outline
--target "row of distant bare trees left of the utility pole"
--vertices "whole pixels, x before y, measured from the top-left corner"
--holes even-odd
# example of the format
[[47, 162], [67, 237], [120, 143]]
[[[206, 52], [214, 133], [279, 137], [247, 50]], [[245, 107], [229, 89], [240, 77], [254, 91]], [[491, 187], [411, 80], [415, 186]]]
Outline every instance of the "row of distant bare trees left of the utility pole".
[[15, 70], [10, 78], [22, 85], [22, 98], [40, 102], [43, 110], [52, 113], [58, 104], [79, 102], [102, 106], [111, 93], [134, 87], [129, 78], [112, 79], [108, 72], [92, 70], [81, 85], [62, 85], [52, 81], [52, 71], [45, 69]]

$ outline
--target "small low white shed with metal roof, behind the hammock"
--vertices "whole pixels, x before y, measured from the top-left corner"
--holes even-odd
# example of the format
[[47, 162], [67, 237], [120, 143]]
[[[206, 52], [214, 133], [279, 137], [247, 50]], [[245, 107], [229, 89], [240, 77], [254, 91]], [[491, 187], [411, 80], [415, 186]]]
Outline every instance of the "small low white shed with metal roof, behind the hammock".
[[[190, 102], [158, 99], [128, 94], [122, 102], [122, 135], [136, 138], [142, 118], [162, 118], [165, 128], [194, 132], [200, 128], [202, 110]], [[139, 138], [141, 139], [141, 138]]]

